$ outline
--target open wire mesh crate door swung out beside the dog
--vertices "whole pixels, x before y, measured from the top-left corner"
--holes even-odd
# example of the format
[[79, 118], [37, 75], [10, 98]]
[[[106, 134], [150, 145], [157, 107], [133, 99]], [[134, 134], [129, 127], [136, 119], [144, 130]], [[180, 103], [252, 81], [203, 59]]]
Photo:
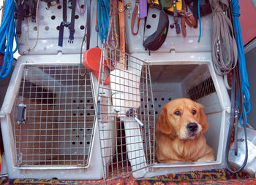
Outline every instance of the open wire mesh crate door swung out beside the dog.
[[130, 173], [140, 178], [154, 164], [155, 113], [149, 66], [103, 44], [98, 82], [97, 118], [105, 179]]

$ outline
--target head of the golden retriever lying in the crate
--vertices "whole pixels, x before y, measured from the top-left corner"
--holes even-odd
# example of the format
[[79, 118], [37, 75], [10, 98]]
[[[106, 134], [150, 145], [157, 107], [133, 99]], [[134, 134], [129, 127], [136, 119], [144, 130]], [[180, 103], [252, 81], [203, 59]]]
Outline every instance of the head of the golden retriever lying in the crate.
[[157, 127], [162, 133], [192, 140], [205, 133], [209, 125], [202, 105], [188, 98], [178, 98], [163, 106]]

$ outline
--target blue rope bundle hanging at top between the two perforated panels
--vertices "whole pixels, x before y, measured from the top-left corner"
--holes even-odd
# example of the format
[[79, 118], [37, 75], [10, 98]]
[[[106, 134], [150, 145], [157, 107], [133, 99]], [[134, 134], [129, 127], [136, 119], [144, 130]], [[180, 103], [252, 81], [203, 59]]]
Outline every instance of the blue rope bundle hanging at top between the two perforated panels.
[[109, 12], [110, 12], [110, 0], [97, 0], [98, 1], [98, 28], [99, 38], [103, 43], [107, 40], [108, 36], [108, 25], [109, 25]]

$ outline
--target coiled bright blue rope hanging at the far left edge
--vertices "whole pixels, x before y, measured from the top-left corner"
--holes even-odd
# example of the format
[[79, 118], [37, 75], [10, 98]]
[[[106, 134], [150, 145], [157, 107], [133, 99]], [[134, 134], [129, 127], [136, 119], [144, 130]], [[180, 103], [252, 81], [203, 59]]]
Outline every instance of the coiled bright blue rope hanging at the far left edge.
[[[0, 26], [0, 52], [4, 55], [4, 61], [1, 63], [0, 80], [10, 74], [12, 68], [13, 53], [18, 50], [18, 40], [15, 34], [15, 2], [7, 0], [4, 4], [4, 19]], [[16, 48], [12, 51], [13, 41], [15, 39]]]

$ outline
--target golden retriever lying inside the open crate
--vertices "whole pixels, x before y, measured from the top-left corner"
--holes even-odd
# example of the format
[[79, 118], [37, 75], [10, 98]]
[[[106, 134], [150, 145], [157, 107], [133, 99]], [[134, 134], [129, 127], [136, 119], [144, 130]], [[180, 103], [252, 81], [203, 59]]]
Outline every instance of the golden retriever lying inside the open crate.
[[189, 98], [177, 98], [162, 107], [156, 125], [159, 163], [214, 161], [214, 150], [203, 133], [209, 124], [203, 106]]

